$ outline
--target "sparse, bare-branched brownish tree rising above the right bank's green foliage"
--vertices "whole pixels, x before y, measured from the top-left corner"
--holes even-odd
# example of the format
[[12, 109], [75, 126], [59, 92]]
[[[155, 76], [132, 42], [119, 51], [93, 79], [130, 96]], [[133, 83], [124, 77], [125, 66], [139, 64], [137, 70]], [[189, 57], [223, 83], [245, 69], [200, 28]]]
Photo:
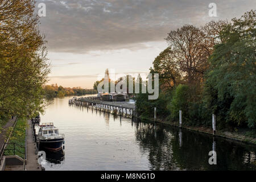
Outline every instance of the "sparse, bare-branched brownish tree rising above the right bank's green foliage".
[[220, 20], [211, 21], [200, 28], [192, 25], [177, 28], [168, 34], [166, 40], [169, 47], [159, 56], [168, 53], [167, 68], [172, 65], [172, 69], [178, 69], [176, 73], [179, 73], [189, 85], [200, 85], [209, 67], [208, 58], [213, 52], [214, 45], [222, 42], [220, 32], [225, 24], [226, 21]]

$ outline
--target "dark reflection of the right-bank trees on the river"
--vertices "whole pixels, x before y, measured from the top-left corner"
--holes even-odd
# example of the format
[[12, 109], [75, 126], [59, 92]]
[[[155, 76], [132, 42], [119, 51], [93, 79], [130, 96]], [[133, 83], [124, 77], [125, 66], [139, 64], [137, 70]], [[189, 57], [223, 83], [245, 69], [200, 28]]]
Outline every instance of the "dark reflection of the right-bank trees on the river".
[[[163, 125], [155, 129], [151, 123], [139, 122], [136, 125], [137, 141], [143, 152], [148, 152], [152, 170], [256, 170], [253, 146], [246, 147], [191, 131], [182, 133], [181, 129]], [[209, 151], [216, 151], [217, 165], [208, 163]]]

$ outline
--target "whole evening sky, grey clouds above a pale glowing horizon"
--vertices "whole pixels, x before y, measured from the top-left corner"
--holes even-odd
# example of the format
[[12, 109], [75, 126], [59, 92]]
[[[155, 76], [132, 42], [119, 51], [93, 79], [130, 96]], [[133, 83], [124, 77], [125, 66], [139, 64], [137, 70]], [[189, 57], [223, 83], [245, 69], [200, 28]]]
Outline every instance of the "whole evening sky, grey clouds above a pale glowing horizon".
[[[38, 0], [36, 11], [39, 3], [46, 5], [40, 31], [51, 63], [48, 84], [88, 89], [106, 68], [148, 73], [171, 30], [240, 18], [256, 7], [254, 0]], [[210, 3], [217, 16], [209, 16]]]

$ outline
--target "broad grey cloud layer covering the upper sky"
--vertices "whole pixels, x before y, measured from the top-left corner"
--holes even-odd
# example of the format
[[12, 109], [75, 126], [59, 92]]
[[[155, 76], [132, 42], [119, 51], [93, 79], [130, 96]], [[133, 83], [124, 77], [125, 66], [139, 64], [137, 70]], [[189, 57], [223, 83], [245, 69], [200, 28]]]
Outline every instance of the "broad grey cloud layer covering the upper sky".
[[172, 0], [39, 0], [46, 3], [40, 28], [55, 52], [84, 53], [103, 49], [146, 48], [142, 42], [164, 40], [183, 24], [240, 17], [256, 1], [214, 1], [217, 18], [208, 16], [207, 1]]

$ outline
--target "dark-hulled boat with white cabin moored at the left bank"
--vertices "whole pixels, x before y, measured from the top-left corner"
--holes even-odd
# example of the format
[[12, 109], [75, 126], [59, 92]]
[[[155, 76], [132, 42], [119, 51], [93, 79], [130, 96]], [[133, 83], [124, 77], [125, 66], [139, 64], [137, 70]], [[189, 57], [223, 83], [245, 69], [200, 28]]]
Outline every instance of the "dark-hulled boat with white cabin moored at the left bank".
[[60, 150], [64, 143], [64, 134], [59, 133], [59, 129], [53, 123], [42, 123], [38, 132], [39, 148], [47, 150]]

